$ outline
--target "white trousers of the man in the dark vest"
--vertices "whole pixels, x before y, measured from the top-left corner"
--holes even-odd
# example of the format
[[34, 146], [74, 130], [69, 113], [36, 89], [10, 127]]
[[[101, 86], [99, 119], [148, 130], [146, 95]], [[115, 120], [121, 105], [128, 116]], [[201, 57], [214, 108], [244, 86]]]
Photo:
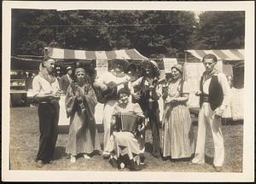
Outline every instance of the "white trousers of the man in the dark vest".
[[222, 166], [224, 164], [224, 139], [221, 132], [221, 118], [214, 115], [210, 104], [207, 102], [203, 102], [199, 112], [195, 158], [192, 162], [197, 164], [205, 163], [206, 125], [210, 125], [212, 130], [214, 143], [213, 165]]

